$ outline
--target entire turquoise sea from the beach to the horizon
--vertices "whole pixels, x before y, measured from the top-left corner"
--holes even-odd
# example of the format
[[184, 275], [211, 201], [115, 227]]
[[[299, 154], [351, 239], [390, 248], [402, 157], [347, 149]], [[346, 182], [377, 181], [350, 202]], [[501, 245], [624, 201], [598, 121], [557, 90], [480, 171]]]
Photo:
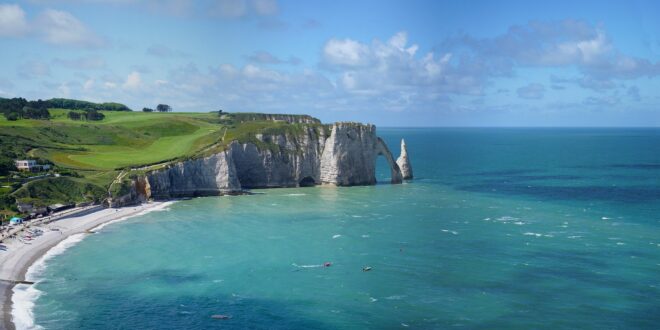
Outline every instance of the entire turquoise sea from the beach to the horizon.
[[48, 262], [36, 323], [658, 327], [660, 130], [379, 134], [393, 150], [406, 138], [413, 182], [199, 198], [112, 224]]

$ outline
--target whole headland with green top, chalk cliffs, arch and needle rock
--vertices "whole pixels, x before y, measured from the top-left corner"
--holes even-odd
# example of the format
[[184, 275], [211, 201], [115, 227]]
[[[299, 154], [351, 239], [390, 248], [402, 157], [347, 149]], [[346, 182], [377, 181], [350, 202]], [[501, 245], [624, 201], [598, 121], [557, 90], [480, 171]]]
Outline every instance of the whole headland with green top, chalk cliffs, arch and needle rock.
[[405, 143], [395, 159], [370, 124], [223, 110], [176, 113], [166, 104], [138, 112], [71, 99], [0, 99], [0, 113], [5, 222], [63, 205], [371, 185], [380, 155], [392, 183], [412, 178]]

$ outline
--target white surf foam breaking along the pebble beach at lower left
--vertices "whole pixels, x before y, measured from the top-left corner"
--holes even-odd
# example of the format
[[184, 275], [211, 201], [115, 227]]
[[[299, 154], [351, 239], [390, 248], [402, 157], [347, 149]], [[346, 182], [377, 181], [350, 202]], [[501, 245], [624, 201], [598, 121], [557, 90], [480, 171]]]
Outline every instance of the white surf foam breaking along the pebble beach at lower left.
[[[32, 282], [38, 282], [39, 276], [46, 270], [46, 262], [58, 256], [68, 248], [78, 244], [85, 238], [85, 234], [75, 234], [67, 237], [52, 249], [48, 250], [39, 258], [30, 268], [28, 268], [25, 279]], [[41, 296], [42, 292], [36, 288], [36, 285], [19, 284], [14, 286], [12, 295], [12, 318], [16, 329], [43, 329], [43, 327], [34, 323], [34, 304]]]

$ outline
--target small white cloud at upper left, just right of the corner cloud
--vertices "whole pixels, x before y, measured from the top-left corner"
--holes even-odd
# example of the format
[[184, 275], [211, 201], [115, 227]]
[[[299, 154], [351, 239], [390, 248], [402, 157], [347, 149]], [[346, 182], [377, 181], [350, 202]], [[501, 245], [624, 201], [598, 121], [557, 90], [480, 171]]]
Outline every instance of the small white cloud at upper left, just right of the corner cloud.
[[103, 41], [68, 12], [47, 9], [37, 19], [42, 38], [54, 45], [99, 47]]

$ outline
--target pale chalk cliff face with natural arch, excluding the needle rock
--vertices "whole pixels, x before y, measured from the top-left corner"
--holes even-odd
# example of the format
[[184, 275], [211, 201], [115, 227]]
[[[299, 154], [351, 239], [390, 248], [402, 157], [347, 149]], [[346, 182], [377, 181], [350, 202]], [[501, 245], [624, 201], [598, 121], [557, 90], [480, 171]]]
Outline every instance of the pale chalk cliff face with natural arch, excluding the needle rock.
[[108, 204], [240, 194], [251, 188], [373, 185], [379, 155], [390, 165], [392, 183], [401, 183], [399, 165], [374, 125], [284, 120], [295, 129], [255, 132], [249, 141], [234, 140], [211, 155], [129, 173]]

